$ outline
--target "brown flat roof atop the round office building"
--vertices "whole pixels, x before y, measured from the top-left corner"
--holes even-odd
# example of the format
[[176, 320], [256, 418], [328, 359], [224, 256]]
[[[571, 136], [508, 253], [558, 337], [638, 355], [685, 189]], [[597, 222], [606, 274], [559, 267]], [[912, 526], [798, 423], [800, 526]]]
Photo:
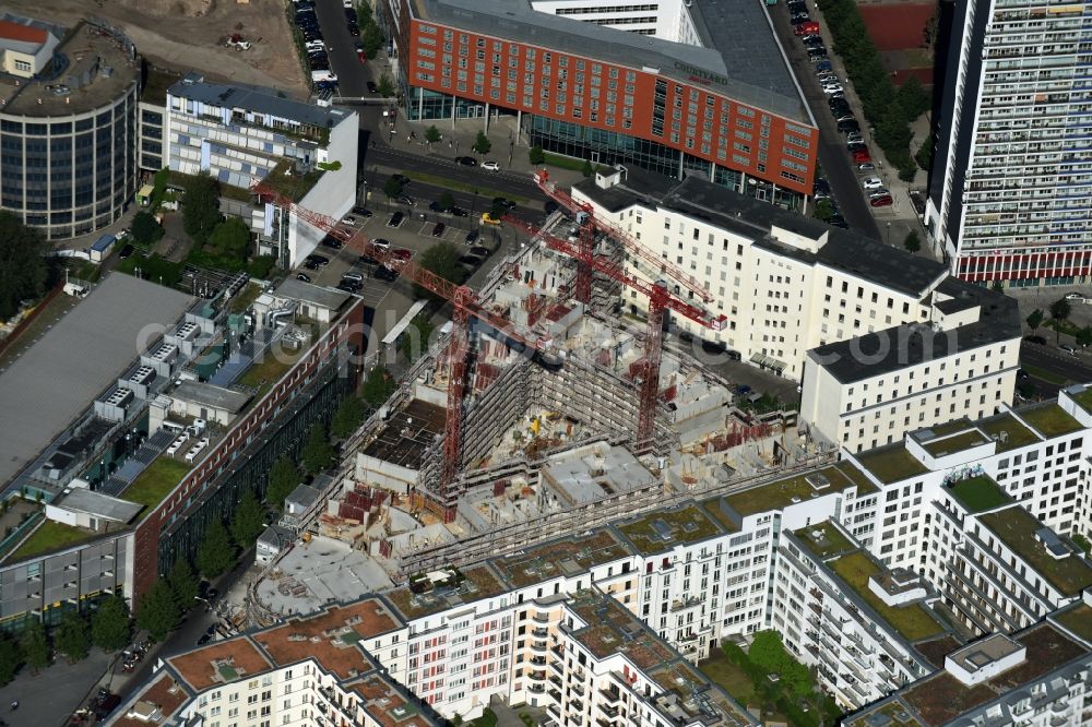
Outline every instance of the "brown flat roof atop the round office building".
[[[61, 60], [57, 71], [46, 70], [32, 80], [20, 79], [17, 86], [9, 80], [0, 81], [0, 98], [7, 100], [0, 116], [84, 114], [112, 104], [140, 76], [141, 58], [132, 43], [124, 36], [104, 33], [91, 21], [81, 21], [64, 35], [54, 50], [54, 59]], [[61, 86], [68, 93], [57, 93]]]

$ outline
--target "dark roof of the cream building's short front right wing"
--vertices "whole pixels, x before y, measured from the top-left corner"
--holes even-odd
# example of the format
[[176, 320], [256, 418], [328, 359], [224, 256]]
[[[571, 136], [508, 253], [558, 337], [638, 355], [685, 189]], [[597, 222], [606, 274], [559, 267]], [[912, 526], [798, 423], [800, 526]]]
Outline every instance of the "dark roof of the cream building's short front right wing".
[[[1020, 311], [1014, 299], [954, 277], [945, 279], [937, 290], [956, 296], [959, 302], [952, 306], [980, 306], [978, 320], [950, 331], [934, 331], [925, 323], [898, 325], [819, 346], [809, 356], [822, 361], [823, 368], [840, 382], [850, 383], [1020, 337]], [[877, 360], [880, 350], [885, 353]]]

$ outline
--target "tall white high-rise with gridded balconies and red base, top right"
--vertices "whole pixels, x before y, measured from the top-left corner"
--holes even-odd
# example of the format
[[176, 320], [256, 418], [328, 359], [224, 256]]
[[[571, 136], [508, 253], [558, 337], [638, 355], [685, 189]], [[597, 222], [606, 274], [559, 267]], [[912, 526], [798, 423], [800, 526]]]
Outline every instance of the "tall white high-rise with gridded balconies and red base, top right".
[[925, 221], [963, 279], [1088, 279], [1088, 7], [953, 5]]

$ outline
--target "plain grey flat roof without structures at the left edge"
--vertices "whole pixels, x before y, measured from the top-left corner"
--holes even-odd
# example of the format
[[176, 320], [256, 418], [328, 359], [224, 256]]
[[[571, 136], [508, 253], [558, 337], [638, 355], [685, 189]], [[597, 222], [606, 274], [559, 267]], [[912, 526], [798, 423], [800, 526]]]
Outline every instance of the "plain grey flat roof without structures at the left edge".
[[[136, 359], [141, 332], [192, 298], [114, 273], [0, 374], [0, 482], [7, 482]], [[139, 305], [134, 305], [139, 302]]]

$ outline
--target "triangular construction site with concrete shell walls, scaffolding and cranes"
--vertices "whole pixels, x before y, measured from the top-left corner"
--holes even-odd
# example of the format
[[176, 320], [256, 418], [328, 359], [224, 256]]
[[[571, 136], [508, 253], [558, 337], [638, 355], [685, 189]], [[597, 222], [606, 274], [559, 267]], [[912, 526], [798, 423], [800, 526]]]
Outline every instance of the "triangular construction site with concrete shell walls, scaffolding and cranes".
[[[312, 560], [292, 565], [289, 553], [265, 597], [258, 589], [275, 601], [268, 616], [336, 591], [317, 583], [319, 551], [379, 591], [833, 456], [809, 445], [794, 413], [737, 407], [731, 382], [664, 336], [668, 314], [710, 327], [723, 318], [628, 276], [622, 257], [648, 251], [555, 199], [562, 210], [542, 228], [506, 217], [531, 243], [478, 291], [400, 265], [453, 302], [452, 325], [344, 450], [340, 485], [296, 548]], [[383, 261], [359, 236], [346, 243]], [[650, 261], [650, 279], [687, 284]], [[648, 320], [621, 313], [626, 288], [649, 295]]]

